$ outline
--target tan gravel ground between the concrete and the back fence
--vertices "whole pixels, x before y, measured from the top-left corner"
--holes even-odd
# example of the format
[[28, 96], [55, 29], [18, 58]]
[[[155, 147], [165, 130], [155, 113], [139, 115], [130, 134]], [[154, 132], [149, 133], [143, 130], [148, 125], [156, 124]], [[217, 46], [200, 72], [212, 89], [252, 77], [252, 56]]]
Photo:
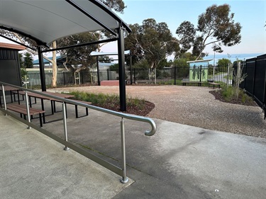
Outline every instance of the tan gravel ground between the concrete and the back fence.
[[[80, 86], [57, 91], [119, 93], [118, 86]], [[126, 86], [127, 96], [153, 102], [148, 114], [174, 123], [266, 138], [266, 120], [259, 106], [242, 106], [217, 101], [212, 89], [198, 86]]]

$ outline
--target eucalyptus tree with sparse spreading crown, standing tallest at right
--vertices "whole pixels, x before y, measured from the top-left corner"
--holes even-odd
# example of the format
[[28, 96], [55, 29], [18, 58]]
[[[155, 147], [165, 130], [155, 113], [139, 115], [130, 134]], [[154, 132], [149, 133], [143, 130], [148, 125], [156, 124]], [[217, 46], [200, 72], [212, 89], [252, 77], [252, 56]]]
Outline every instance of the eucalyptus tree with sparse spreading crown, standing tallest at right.
[[206, 8], [198, 18], [197, 28], [189, 21], [182, 22], [177, 28], [177, 35], [182, 50], [192, 47], [193, 55], [199, 59], [204, 57], [207, 45], [215, 44], [216, 52], [221, 52], [221, 46], [233, 46], [240, 43], [241, 25], [233, 20], [234, 13], [228, 4], [212, 5]]

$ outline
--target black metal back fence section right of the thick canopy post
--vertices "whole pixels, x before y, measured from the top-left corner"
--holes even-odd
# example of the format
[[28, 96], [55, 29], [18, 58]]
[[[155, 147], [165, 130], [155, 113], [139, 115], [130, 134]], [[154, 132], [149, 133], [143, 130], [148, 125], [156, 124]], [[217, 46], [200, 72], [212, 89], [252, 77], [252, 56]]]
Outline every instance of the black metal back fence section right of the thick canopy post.
[[210, 81], [232, 84], [232, 74], [228, 66], [201, 65], [164, 69], [132, 69], [132, 73], [129, 71], [127, 76], [132, 75], [132, 81], [135, 84], [208, 86]]

